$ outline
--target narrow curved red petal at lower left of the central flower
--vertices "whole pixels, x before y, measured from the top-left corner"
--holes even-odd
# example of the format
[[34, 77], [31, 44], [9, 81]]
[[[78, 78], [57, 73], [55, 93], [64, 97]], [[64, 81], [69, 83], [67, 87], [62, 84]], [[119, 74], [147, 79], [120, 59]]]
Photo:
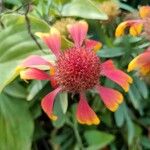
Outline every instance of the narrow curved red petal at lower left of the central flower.
[[57, 116], [53, 113], [53, 105], [56, 95], [61, 91], [61, 88], [58, 87], [54, 91], [47, 94], [41, 101], [41, 106], [43, 111], [48, 115], [52, 120], [57, 120]]

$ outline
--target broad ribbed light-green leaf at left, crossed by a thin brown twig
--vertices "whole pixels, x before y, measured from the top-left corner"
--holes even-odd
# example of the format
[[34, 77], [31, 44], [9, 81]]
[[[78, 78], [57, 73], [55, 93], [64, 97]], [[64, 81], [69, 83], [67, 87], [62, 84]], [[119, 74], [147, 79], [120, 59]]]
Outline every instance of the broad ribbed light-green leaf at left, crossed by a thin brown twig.
[[[34, 17], [29, 19], [33, 34], [49, 31], [47, 23]], [[24, 58], [31, 54], [44, 55], [29, 35], [23, 15], [4, 15], [2, 22], [5, 28], [0, 32], [0, 72], [3, 72], [0, 74], [0, 91], [16, 78], [15, 68]]]

